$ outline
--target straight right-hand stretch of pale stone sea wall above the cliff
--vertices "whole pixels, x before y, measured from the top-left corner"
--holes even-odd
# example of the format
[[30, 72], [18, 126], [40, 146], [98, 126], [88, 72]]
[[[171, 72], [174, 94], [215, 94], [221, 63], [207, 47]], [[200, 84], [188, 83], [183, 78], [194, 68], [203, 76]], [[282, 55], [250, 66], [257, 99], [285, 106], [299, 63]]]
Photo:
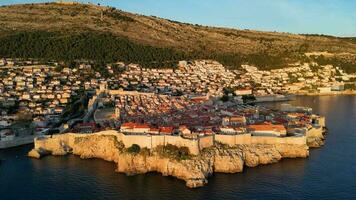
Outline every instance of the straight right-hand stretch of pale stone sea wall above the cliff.
[[215, 135], [215, 141], [229, 146], [249, 145], [249, 144], [291, 144], [306, 145], [306, 136], [295, 137], [269, 137], [269, 136], [252, 136], [251, 134], [240, 135]]

